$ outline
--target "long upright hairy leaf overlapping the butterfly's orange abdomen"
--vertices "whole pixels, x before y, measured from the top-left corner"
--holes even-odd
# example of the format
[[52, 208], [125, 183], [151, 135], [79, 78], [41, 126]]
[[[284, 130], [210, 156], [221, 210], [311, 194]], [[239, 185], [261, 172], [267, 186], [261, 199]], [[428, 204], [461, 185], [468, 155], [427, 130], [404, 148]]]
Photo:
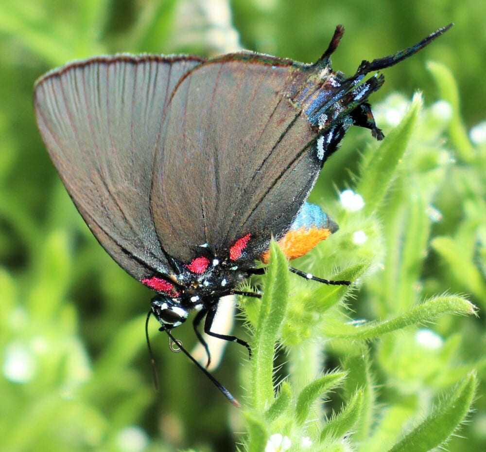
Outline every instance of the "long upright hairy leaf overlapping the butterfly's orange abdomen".
[[287, 308], [288, 273], [287, 259], [272, 241], [251, 360], [252, 404], [257, 410], [265, 410], [274, 400], [273, 360], [278, 329]]

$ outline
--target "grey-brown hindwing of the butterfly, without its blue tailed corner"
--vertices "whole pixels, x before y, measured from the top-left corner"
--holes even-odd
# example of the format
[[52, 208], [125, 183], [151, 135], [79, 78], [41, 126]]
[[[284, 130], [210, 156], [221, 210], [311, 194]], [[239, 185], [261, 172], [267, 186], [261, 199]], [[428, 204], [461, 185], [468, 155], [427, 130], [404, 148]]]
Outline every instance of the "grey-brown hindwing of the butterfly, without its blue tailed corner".
[[292, 101], [310, 66], [233, 54], [183, 77], [167, 108], [154, 166], [152, 214], [164, 249], [183, 262], [219, 256], [251, 234], [253, 258], [289, 228], [321, 169], [318, 135]]

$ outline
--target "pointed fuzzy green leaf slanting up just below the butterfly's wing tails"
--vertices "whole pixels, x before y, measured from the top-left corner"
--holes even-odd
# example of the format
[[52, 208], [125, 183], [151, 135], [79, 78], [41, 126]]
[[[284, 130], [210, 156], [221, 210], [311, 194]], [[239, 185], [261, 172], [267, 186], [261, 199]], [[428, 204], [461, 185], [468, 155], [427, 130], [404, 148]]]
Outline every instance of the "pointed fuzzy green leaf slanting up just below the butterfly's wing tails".
[[395, 177], [400, 159], [407, 148], [410, 136], [422, 107], [422, 98], [416, 94], [410, 110], [398, 127], [393, 129], [361, 170], [356, 193], [364, 198], [364, 214], [370, 215], [382, 203], [388, 187]]

